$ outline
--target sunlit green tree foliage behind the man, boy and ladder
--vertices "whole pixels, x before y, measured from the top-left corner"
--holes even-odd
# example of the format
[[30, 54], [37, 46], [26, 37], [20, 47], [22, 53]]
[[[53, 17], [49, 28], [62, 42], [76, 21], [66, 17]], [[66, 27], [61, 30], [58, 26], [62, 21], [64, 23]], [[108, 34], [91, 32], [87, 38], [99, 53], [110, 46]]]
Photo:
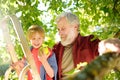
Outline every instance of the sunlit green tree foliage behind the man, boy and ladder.
[[[80, 33], [93, 34], [95, 38], [120, 38], [120, 0], [0, 0], [0, 19], [16, 14], [24, 33], [32, 24], [46, 31], [45, 44], [52, 47], [57, 32], [55, 18], [65, 11], [75, 13], [80, 19]], [[9, 23], [18, 58], [23, 56], [20, 42]], [[5, 49], [4, 49], [5, 50]], [[0, 50], [0, 52], [5, 52]]]

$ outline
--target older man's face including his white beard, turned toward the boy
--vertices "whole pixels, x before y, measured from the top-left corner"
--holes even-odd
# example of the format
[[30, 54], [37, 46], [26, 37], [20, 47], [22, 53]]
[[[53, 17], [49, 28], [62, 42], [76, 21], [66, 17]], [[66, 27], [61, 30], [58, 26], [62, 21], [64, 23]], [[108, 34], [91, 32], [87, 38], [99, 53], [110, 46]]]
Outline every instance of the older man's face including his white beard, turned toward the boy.
[[75, 40], [77, 29], [74, 25], [69, 24], [66, 18], [60, 19], [57, 23], [57, 28], [63, 46], [67, 46]]

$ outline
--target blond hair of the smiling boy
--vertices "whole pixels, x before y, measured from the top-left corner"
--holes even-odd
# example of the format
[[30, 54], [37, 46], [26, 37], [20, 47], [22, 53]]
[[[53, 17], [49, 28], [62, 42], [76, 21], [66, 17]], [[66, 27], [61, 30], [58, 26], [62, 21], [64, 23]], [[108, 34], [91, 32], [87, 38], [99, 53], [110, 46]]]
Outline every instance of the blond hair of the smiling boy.
[[38, 25], [31, 25], [28, 28], [28, 32], [27, 32], [28, 40], [30, 40], [35, 33], [39, 33], [43, 38], [45, 38], [45, 31], [43, 30], [42, 27]]

